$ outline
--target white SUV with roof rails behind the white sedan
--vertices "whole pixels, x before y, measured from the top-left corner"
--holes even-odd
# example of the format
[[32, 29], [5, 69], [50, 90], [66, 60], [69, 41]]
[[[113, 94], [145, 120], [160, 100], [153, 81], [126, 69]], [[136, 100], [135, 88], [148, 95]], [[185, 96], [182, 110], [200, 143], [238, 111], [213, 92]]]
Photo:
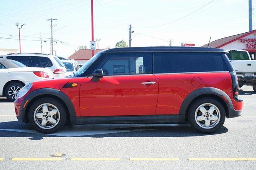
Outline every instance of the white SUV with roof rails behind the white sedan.
[[43, 53], [10, 53], [1, 55], [0, 58], [16, 60], [28, 67], [51, 69], [53, 77], [64, 77], [67, 71], [60, 59], [54, 55]]

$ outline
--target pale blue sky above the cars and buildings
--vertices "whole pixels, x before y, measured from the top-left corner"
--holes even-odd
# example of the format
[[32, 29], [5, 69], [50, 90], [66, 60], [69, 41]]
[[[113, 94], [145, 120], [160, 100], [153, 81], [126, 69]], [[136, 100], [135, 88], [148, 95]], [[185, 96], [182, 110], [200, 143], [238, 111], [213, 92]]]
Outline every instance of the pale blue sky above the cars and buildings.
[[[1, 0], [0, 37], [17, 39], [15, 23], [26, 23], [22, 52], [41, 52], [40, 41], [35, 41], [41, 33], [43, 52], [50, 53], [50, 18], [58, 19], [57, 55], [68, 57], [78, 46], [89, 46], [90, 0]], [[129, 24], [133, 47], [166, 46], [168, 40], [173, 46], [201, 46], [210, 36], [216, 40], [247, 32], [248, 0], [94, 0], [94, 38], [101, 38], [100, 48], [114, 47], [120, 40], [128, 43]], [[0, 48], [19, 49], [19, 42], [0, 38]]]

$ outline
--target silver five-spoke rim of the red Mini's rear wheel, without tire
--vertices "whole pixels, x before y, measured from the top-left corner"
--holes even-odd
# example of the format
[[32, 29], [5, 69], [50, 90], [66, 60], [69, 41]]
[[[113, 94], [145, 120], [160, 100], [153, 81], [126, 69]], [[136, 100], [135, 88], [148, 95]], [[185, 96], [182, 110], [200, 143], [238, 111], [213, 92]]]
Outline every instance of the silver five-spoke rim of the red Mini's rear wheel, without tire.
[[220, 110], [212, 103], [204, 103], [196, 109], [195, 120], [202, 128], [214, 128], [220, 122]]

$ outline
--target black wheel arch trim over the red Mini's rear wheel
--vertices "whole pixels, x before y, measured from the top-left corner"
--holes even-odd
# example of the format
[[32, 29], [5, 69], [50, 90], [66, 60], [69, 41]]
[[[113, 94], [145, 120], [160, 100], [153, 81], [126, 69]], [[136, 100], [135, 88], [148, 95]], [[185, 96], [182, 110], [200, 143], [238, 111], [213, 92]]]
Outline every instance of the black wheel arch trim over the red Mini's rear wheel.
[[[228, 113], [226, 113], [226, 117], [229, 118], [229, 114], [233, 113], [234, 111], [234, 107], [233, 107], [233, 103], [230, 99], [230, 97], [222, 90], [214, 88], [214, 87], [203, 87], [200, 89], [197, 89], [195, 91], [193, 91], [192, 93], [190, 93], [183, 101], [181, 107], [180, 107], [180, 111], [179, 114], [180, 115], [185, 115], [186, 111], [190, 105], [190, 103], [196, 99], [196, 97], [199, 97], [201, 95], [215, 95], [219, 98], [221, 98], [225, 103], [226, 106], [228, 108]], [[226, 100], [228, 101], [228, 103], [223, 99], [223, 97], [226, 98]]]

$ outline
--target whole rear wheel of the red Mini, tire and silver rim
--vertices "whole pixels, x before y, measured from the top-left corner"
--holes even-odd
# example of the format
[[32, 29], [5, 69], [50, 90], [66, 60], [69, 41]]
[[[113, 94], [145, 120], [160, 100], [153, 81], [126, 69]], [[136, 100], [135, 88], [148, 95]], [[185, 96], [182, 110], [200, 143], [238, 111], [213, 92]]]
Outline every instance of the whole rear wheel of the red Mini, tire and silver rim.
[[224, 124], [226, 111], [218, 100], [211, 97], [197, 99], [192, 103], [188, 119], [199, 132], [213, 133]]

